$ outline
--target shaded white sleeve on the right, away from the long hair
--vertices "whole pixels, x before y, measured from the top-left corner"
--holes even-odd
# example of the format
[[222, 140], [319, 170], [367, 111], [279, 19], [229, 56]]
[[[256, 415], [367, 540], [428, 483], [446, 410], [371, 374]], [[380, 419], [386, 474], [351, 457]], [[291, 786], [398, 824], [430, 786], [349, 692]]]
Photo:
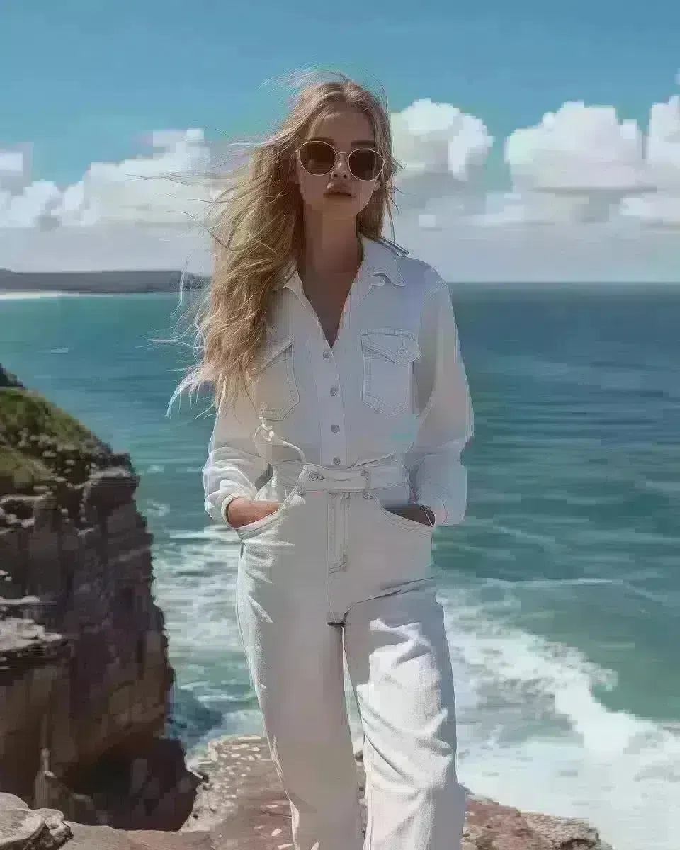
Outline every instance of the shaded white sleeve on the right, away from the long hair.
[[435, 524], [462, 522], [467, 470], [461, 453], [473, 435], [473, 408], [449, 288], [438, 277], [422, 314], [421, 357], [414, 364], [418, 428], [405, 462], [416, 501]]

